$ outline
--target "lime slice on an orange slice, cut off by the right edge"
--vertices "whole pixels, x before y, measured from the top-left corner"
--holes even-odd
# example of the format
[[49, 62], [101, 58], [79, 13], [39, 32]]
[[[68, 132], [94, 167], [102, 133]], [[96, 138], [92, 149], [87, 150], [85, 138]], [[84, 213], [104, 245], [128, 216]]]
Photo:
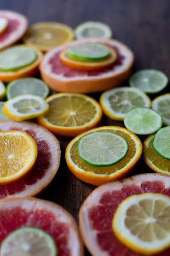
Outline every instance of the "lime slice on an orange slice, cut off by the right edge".
[[161, 157], [170, 160], [170, 126], [157, 131], [153, 138], [152, 145]]

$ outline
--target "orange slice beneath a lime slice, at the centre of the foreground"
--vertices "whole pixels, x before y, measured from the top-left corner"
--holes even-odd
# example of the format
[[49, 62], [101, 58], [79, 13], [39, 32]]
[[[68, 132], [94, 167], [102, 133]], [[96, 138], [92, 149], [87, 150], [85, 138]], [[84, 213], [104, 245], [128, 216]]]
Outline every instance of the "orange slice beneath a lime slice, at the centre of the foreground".
[[[85, 163], [78, 152], [80, 139], [94, 132], [111, 132], [122, 136], [128, 143], [125, 158], [113, 166], [94, 167]], [[102, 185], [112, 180], [118, 180], [130, 173], [138, 163], [142, 154], [142, 143], [139, 138], [125, 128], [117, 126], [103, 126], [86, 131], [74, 138], [67, 146], [65, 158], [70, 171], [80, 180], [93, 185]]]

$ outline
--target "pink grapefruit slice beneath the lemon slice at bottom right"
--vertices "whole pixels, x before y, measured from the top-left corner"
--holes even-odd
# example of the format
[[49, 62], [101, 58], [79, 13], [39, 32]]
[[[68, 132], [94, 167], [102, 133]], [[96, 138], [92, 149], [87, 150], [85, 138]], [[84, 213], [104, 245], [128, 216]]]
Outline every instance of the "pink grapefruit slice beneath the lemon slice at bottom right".
[[[157, 190], [153, 186], [154, 184], [156, 185], [156, 183], [157, 183], [157, 185], [160, 185], [160, 186], [157, 186]], [[145, 184], [145, 185], [142, 186], [143, 184]], [[149, 185], [147, 186], [147, 184], [149, 184]], [[102, 247], [105, 247], [105, 249], [108, 248], [108, 250], [109, 250], [109, 245], [107, 244], [107, 247], [106, 247], [106, 245], [104, 245], [105, 241], [103, 241], [103, 240], [102, 240], [102, 244], [99, 245], [99, 243], [97, 241], [97, 236], [99, 237], [100, 234], [105, 233], [107, 236], [107, 233], [113, 233], [112, 227], [111, 227], [111, 223], [112, 223], [112, 219], [113, 219], [112, 216], [114, 215], [114, 212], [116, 211], [116, 209], [119, 206], [119, 204], [121, 203], [121, 201], [123, 201], [125, 198], [130, 196], [130, 195], [125, 194], [125, 190], [127, 188], [129, 188], [129, 186], [133, 187], [135, 189], [136, 189], [136, 187], [138, 187], [138, 189], [139, 189], [138, 192], [132, 192], [132, 194], [130, 194], [130, 195], [139, 194], [139, 193], [143, 193], [143, 192], [159, 192], [159, 193], [163, 193], [165, 195], [170, 196], [170, 177], [167, 177], [166, 175], [161, 175], [161, 174], [136, 175], [136, 176], [132, 176], [130, 178], [125, 178], [121, 181], [114, 181], [111, 183], [107, 183], [107, 184], [104, 184], [104, 185], [96, 188], [88, 196], [88, 198], [86, 198], [86, 200], [82, 204], [82, 207], [80, 208], [80, 211], [79, 211], [79, 226], [80, 226], [80, 232], [82, 235], [82, 239], [85, 243], [85, 246], [88, 248], [88, 250], [90, 251], [92, 256], [115, 256], [115, 255], [141, 256], [140, 254], [136, 254], [136, 253], [128, 250], [124, 245], [122, 245], [115, 238], [114, 234], [113, 234], [113, 238], [116, 240], [112, 242], [112, 244], [113, 244], [112, 246], [113, 247], [117, 246], [116, 247], [117, 250], [118, 250], [118, 247], [120, 249], [122, 246], [122, 250], [121, 250], [120, 254], [119, 254], [119, 252], [113, 250], [113, 248], [112, 248], [112, 250], [110, 250], [110, 252], [102, 249]], [[149, 186], [150, 186], [150, 191], [148, 190]], [[114, 201], [108, 201], [108, 202], [102, 201], [101, 202], [101, 200], [105, 196], [105, 193], [107, 193], [108, 197], [110, 197], [111, 195], [113, 196], [113, 191], [115, 191], [115, 193], [120, 193], [120, 195], [122, 195], [121, 201], [119, 201], [118, 198], [116, 198], [115, 202]], [[114, 197], [112, 197], [112, 199], [113, 198]], [[94, 227], [94, 225], [96, 225], [96, 224], [94, 224], [93, 220], [90, 220], [90, 217], [89, 217], [90, 211], [91, 211], [91, 209], [93, 209], [93, 207], [94, 208], [96, 207], [96, 209], [98, 209], [97, 207], [104, 207], [105, 214], [107, 213], [108, 216], [109, 215], [111, 216], [111, 223], [109, 223], [109, 229], [108, 229], [107, 220], [105, 220], [103, 218], [103, 221], [101, 221], [101, 223], [99, 223], [99, 226], [97, 227], [98, 230], [96, 230], [96, 228]], [[113, 208], [115, 208], [115, 209], [113, 209]], [[96, 218], [98, 218], [99, 216], [100, 216], [100, 212], [98, 210]], [[101, 218], [102, 217], [103, 216], [101, 216]], [[108, 237], [108, 241], [109, 241], [109, 237]], [[157, 254], [157, 256], [170, 255], [170, 249], [168, 249], [166, 251], [166, 253], [163, 252], [163, 253]]]

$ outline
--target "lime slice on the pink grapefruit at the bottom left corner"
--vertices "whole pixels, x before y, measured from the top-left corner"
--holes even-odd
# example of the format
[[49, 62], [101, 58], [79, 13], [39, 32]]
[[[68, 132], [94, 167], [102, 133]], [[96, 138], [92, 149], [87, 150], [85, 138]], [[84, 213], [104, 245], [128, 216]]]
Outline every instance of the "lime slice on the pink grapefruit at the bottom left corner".
[[23, 227], [3, 240], [0, 255], [57, 256], [58, 251], [54, 239], [48, 233], [35, 227]]

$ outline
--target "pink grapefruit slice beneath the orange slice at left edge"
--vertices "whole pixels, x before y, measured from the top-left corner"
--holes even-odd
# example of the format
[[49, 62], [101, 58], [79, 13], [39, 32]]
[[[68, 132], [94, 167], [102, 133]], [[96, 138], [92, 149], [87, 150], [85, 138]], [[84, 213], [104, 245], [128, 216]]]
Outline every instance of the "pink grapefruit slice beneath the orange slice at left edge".
[[[0, 122], [0, 130], [1, 131], [8, 131], [8, 130], [22, 130], [22, 131], [30, 131], [29, 134], [34, 138], [32, 134], [35, 134], [35, 140], [37, 145], [40, 146], [40, 157], [42, 157], [42, 160], [44, 160], [45, 157], [49, 157], [49, 163], [48, 166], [46, 166], [46, 169], [44, 170], [44, 174], [41, 175], [40, 177], [37, 177], [37, 181], [29, 181], [27, 182], [27, 177], [25, 179], [18, 181], [19, 183], [16, 183], [17, 186], [24, 186], [24, 189], [19, 189], [19, 192], [14, 193], [11, 192], [11, 190], [15, 189], [15, 183], [11, 184], [10, 186], [2, 185], [0, 186], [0, 198], [13, 198], [13, 197], [25, 197], [25, 196], [35, 196], [40, 194], [42, 190], [44, 190], [54, 179], [57, 170], [59, 168], [59, 162], [60, 162], [60, 146], [57, 138], [51, 134], [50, 131], [48, 131], [46, 128], [31, 123], [31, 122], [16, 122], [16, 121], [2, 121]], [[41, 143], [42, 142], [42, 143]], [[41, 150], [41, 147], [43, 147], [43, 142], [46, 142], [48, 145], [48, 152], [46, 152], [45, 148]], [[47, 153], [47, 155], [45, 154]], [[38, 156], [39, 157], [39, 151], [38, 151]], [[41, 159], [41, 158], [40, 158]], [[42, 163], [43, 165], [43, 163]], [[37, 166], [36, 168], [36, 163], [33, 168], [32, 172], [40, 172], [40, 168], [43, 168], [43, 166]], [[31, 173], [32, 173], [31, 172]], [[33, 175], [34, 176], [34, 175]], [[24, 183], [24, 184], [23, 184]], [[13, 186], [13, 187], [11, 187]], [[6, 189], [6, 190], [5, 190]], [[5, 190], [5, 195], [4, 193]]]

